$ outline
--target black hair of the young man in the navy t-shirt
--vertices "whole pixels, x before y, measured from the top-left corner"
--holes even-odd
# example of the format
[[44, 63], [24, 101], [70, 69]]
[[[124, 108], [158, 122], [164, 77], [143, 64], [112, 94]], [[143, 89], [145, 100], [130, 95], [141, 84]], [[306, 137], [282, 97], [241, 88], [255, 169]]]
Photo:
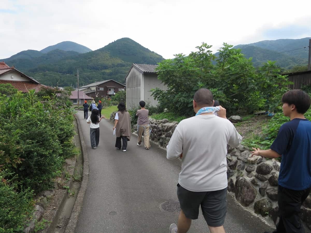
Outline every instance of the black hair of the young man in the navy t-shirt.
[[288, 105], [294, 104], [297, 112], [304, 114], [310, 107], [311, 98], [306, 92], [300, 89], [290, 90], [282, 96], [282, 103], [287, 103]]

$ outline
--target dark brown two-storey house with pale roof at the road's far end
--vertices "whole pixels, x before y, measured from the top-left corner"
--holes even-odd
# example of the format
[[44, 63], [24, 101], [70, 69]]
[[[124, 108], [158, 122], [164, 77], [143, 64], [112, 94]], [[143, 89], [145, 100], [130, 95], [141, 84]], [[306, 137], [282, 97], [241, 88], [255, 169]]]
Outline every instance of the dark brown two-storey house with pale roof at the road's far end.
[[119, 91], [125, 91], [126, 86], [112, 79], [91, 83], [79, 88], [79, 91], [84, 91], [85, 94], [92, 98], [109, 98], [111, 99]]

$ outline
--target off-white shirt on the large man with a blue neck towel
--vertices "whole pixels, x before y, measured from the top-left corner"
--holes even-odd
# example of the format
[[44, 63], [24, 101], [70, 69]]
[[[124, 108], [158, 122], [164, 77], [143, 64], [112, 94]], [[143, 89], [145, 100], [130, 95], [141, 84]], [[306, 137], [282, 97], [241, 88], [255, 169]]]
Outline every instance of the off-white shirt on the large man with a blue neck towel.
[[227, 119], [213, 114], [190, 117], [177, 125], [169, 144], [167, 158], [183, 153], [179, 184], [193, 192], [222, 190], [227, 181], [227, 144], [236, 147], [241, 135]]

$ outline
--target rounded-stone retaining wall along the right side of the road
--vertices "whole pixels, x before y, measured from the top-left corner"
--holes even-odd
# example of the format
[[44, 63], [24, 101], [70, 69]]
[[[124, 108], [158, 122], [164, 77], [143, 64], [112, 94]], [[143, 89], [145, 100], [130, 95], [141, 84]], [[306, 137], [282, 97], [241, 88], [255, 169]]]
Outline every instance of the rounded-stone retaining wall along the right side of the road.
[[[110, 121], [114, 122], [115, 113]], [[149, 118], [151, 141], [166, 148], [178, 122]], [[137, 125], [133, 126], [137, 133]], [[249, 148], [239, 145], [227, 146], [228, 191], [244, 208], [262, 217], [271, 218], [276, 223], [278, 215], [277, 185], [281, 163], [276, 159], [251, 157]], [[301, 218], [311, 230], [311, 194], [301, 207]]]

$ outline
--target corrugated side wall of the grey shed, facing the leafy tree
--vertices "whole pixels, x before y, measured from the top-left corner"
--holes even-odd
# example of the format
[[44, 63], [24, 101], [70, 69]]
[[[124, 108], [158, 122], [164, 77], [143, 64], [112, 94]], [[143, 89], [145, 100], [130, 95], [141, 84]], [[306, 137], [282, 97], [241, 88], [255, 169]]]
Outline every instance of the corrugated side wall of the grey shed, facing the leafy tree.
[[151, 106], [156, 107], [158, 105], [158, 101], [154, 100], [153, 96], [151, 96], [151, 89], [156, 89], [156, 87], [161, 90], [167, 90], [167, 86], [161, 83], [161, 80], [158, 79], [157, 74], [144, 74], [144, 101], [146, 103], [150, 103]]

